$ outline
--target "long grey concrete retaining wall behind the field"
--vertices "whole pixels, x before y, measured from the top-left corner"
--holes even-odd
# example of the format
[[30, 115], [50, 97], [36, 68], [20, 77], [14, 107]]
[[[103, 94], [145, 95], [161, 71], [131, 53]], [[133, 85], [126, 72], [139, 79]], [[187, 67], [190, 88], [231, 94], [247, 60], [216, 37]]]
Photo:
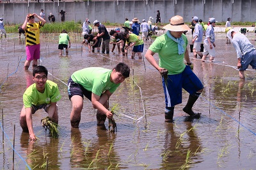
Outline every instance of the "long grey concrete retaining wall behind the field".
[[[233, 3], [234, 2], [234, 3]], [[124, 23], [125, 17], [132, 20], [156, 17], [156, 11], [161, 13], [161, 21], [167, 23], [174, 15], [181, 15], [185, 22], [198, 16], [204, 22], [214, 17], [219, 22], [225, 22], [228, 17], [232, 21], [255, 22], [255, 0], [170, 0], [170, 1], [87, 1], [84, 2], [54, 2], [45, 3], [0, 3], [0, 17], [5, 24], [22, 24], [28, 13], [37, 13], [44, 9], [45, 15], [53, 13], [56, 21], [60, 21], [60, 10], [67, 12], [65, 20], [84, 21], [85, 18], [100, 22]], [[156, 19], [154, 20], [156, 21]]]

